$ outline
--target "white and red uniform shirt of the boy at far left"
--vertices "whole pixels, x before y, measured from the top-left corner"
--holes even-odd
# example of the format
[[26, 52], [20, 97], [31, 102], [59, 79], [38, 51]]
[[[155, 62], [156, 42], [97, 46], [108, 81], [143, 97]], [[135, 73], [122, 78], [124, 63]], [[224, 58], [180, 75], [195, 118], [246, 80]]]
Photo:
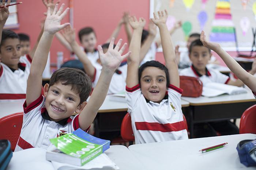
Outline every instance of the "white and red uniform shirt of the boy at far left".
[[18, 70], [0, 63], [0, 101], [26, 99], [27, 78], [29, 77], [31, 61], [29, 55], [21, 56]]

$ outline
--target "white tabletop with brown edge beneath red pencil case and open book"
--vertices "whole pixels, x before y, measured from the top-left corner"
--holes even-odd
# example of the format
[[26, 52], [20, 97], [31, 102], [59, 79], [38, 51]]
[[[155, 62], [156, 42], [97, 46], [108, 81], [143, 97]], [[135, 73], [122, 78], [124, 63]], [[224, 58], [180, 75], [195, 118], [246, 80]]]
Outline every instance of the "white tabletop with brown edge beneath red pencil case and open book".
[[238, 95], [221, 95], [211, 98], [205, 96], [200, 96], [198, 98], [181, 97], [181, 99], [188, 101], [191, 106], [256, 101], [255, 97], [252, 94], [252, 91], [250, 90], [248, 90], [247, 93]]

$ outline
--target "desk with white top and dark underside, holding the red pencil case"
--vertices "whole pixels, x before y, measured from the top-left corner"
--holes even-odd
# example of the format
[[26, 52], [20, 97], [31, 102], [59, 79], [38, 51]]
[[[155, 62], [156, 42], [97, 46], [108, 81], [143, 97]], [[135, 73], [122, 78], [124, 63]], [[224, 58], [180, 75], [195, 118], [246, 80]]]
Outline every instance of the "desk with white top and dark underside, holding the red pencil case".
[[241, 118], [242, 113], [255, 104], [251, 91], [239, 95], [222, 95], [213, 98], [200, 96], [199, 98], [181, 97], [189, 102], [185, 116], [188, 116], [191, 138], [195, 123], [214, 122]]

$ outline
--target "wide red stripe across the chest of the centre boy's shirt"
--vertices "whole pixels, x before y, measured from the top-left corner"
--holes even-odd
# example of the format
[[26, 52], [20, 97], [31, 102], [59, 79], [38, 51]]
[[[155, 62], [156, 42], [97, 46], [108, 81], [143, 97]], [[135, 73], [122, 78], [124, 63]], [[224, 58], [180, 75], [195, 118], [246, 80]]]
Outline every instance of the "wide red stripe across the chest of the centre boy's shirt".
[[186, 129], [183, 121], [166, 124], [161, 124], [157, 122], [135, 122], [135, 126], [137, 130], [151, 130], [161, 132], [172, 132]]

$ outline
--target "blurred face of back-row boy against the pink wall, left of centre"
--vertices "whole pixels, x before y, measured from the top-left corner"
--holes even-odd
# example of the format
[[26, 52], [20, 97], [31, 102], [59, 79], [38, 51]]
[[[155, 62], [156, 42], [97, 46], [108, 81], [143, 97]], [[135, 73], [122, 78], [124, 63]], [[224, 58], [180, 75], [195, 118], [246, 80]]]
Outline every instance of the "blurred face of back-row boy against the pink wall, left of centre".
[[81, 44], [87, 51], [94, 51], [97, 39], [94, 32], [87, 35], [83, 35], [81, 38]]

